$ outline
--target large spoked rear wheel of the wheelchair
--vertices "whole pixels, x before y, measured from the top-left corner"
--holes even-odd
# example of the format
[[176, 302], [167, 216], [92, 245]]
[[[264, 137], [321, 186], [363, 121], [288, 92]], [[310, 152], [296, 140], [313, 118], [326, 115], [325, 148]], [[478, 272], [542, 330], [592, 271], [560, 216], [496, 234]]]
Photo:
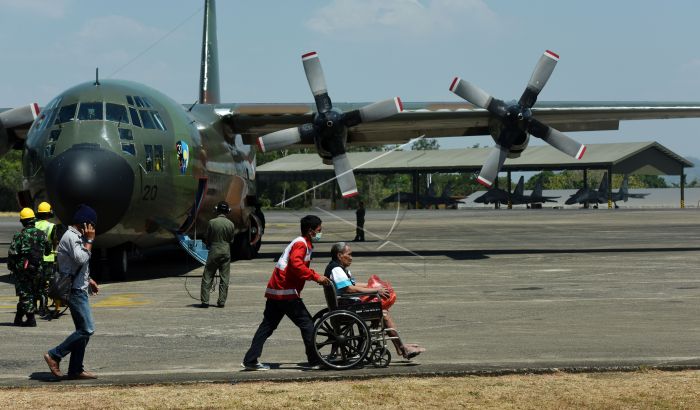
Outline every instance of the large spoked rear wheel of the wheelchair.
[[314, 326], [314, 348], [324, 365], [349, 369], [367, 356], [370, 336], [367, 325], [352, 312], [336, 310]]

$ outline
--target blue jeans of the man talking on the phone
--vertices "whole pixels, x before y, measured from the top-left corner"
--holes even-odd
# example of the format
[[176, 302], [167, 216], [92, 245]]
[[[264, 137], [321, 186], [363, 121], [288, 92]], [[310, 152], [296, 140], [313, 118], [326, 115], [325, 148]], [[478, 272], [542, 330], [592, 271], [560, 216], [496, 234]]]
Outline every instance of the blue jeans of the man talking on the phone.
[[90, 341], [90, 336], [95, 333], [95, 322], [92, 320], [87, 291], [71, 290], [68, 307], [70, 307], [70, 315], [75, 324], [75, 332], [71, 333], [63, 343], [49, 350], [49, 355], [60, 362], [61, 359], [70, 354], [68, 374], [77, 375], [85, 370], [83, 368], [85, 348]]

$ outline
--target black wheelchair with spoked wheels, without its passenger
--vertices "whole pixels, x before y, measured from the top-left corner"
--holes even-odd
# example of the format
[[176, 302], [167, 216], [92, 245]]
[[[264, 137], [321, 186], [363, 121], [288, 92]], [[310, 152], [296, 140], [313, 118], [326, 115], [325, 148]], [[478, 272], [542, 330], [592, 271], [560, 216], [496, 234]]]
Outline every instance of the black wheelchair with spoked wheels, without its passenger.
[[[391, 352], [387, 341], [399, 339], [399, 336], [396, 329], [384, 325], [378, 292], [337, 296], [331, 284], [323, 287], [323, 293], [328, 307], [312, 318], [314, 348], [323, 365], [335, 370], [365, 364], [389, 366]], [[360, 296], [374, 298], [369, 302], [357, 302]]]

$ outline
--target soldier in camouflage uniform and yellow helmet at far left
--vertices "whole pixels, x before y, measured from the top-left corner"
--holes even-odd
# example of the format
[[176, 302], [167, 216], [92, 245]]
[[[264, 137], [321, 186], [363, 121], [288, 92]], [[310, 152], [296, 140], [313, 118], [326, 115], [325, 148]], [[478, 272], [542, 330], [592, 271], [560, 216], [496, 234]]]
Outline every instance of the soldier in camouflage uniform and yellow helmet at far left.
[[[44, 255], [51, 252], [46, 235], [34, 226], [34, 211], [24, 208], [19, 214], [22, 230], [12, 238], [7, 253], [7, 267], [15, 277], [15, 293], [19, 296], [15, 326], [36, 326], [34, 301], [42, 279]], [[24, 315], [27, 321], [22, 322]]]

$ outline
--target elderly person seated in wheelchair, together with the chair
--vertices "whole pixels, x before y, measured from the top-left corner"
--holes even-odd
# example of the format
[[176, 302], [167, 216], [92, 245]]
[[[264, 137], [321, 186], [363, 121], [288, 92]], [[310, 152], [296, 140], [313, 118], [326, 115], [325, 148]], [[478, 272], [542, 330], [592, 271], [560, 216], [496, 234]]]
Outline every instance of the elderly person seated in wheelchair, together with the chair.
[[324, 288], [328, 309], [314, 316], [314, 342], [321, 361], [335, 369], [362, 362], [385, 367], [391, 362], [387, 340], [404, 359], [424, 352], [418, 345], [403, 343], [389, 311], [382, 309], [380, 298], [388, 298], [389, 290], [355, 282], [348, 270], [351, 263], [352, 249], [345, 242], [333, 245], [325, 271], [333, 282]]

